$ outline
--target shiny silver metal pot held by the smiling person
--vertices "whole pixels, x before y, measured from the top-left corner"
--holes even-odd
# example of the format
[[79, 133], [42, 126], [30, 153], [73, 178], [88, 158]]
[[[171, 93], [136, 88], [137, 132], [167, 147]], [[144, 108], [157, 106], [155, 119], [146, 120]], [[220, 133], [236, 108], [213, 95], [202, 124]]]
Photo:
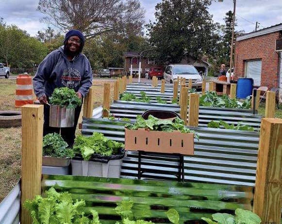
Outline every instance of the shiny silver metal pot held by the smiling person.
[[50, 105], [49, 126], [54, 128], [69, 128], [74, 126], [74, 108]]

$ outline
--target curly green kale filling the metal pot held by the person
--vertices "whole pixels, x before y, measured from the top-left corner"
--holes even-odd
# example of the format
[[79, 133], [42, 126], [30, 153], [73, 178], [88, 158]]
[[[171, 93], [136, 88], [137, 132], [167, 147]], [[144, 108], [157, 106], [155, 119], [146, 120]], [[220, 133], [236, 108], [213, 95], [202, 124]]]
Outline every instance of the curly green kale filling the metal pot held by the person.
[[76, 95], [76, 92], [67, 87], [56, 88], [50, 97], [51, 105], [66, 106], [75, 108], [82, 105], [82, 100]]

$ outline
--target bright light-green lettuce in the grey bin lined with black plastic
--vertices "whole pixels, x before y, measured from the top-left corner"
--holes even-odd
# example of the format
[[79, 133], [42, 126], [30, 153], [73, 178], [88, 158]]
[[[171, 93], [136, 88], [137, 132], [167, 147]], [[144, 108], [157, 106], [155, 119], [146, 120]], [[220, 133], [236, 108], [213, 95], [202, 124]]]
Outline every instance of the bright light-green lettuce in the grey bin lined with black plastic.
[[103, 134], [94, 132], [92, 136], [78, 135], [75, 138], [73, 150], [82, 155], [83, 160], [89, 160], [93, 154], [103, 156], [116, 155], [118, 149], [124, 148], [124, 144], [106, 138]]

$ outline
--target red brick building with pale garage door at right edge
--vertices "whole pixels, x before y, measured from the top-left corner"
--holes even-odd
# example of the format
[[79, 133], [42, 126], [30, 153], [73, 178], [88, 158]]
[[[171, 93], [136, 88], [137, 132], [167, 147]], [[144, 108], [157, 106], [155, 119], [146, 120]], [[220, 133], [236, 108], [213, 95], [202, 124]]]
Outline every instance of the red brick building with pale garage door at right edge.
[[282, 39], [282, 24], [237, 37], [235, 78], [254, 79], [255, 86], [282, 87], [282, 54], [276, 42]]

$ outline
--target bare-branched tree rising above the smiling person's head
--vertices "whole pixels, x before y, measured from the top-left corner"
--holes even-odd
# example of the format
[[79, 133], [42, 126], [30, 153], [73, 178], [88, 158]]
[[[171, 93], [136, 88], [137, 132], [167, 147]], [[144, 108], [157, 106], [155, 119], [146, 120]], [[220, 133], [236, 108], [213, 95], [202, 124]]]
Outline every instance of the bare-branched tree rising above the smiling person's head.
[[43, 22], [63, 30], [78, 29], [86, 37], [122, 32], [128, 23], [136, 29], [143, 24], [144, 10], [139, 0], [39, 0]]

